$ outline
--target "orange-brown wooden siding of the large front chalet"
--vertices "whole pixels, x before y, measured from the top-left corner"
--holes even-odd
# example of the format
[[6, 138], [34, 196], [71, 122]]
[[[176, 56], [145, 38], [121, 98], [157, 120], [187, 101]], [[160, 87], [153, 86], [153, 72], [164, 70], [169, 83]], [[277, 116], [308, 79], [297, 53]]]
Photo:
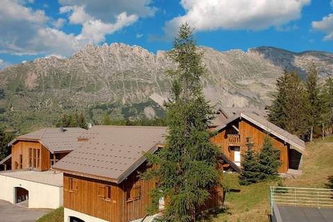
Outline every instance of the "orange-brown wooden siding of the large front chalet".
[[[150, 204], [150, 191], [155, 188], [155, 182], [138, 178], [140, 171], [146, 169], [146, 163], [142, 164], [120, 185], [104, 180], [96, 180], [64, 173], [64, 207], [83, 214], [97, 217], [105, 221], [133, 221], [141, 219], [147, 214]], [[75, 191], [69, 190], [69, 178], [75, 180]], [[101, 198], [99, 187], [108, 185], [111, 187], [111, 199]], [[140, 187], [140, 198], [128, 199], [131, 191]], [[223, 189], [212, 189], [211, 197], [205, 201], [200, 210], [208, 210], [223, 204]]]

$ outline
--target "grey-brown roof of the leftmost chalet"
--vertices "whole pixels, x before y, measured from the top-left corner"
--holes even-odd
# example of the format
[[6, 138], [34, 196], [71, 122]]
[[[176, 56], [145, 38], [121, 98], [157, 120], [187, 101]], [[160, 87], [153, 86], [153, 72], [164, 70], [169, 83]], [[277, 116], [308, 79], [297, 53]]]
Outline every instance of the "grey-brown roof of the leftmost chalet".
[[81, 144], [78, 142], [78, 136], [85, 131], [83, 128], [64, 128], [63, 132], [60, 128], [42, 128], [32, 133], [20, 135], [8, 145], [16, 141], [31, 140], [40, 141], [51, 153], [73, 151]]

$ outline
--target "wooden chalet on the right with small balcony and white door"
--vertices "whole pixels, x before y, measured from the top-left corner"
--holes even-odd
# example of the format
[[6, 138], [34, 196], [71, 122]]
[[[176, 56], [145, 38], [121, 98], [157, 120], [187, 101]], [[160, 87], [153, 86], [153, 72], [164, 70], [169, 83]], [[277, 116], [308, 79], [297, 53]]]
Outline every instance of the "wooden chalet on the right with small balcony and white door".
[[[298, 170], [305, 152], [305, 142], [266, 120], [266, 112], [255, 108], [219, 108], [212, 121], [211, 130], [216, 132], [212, 142], [221, 147], [229, 162], [241, 166], [246, 144], [253, 143], [253, 149], [260, 151], [264, 138], [269, 137], [273, 146], [280, 150], [282, 163], [279, 172]], [[231, 164], [225, 164], [228, 169]]]

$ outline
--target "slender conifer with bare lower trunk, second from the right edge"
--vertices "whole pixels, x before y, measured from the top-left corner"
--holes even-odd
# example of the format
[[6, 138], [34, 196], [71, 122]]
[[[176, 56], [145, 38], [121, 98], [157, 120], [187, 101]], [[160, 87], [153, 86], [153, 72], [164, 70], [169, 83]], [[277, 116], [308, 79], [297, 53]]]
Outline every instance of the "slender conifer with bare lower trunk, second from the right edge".
[[318, 71], [316, 66], [312, 64], [307, 73], [307, 81], [305, 82], [305, 100], [310, 141], [312, 141], [313, 138], [314, 128], [323, 123], [323, 101], [320, 87], [321, 86], [318, 84]]

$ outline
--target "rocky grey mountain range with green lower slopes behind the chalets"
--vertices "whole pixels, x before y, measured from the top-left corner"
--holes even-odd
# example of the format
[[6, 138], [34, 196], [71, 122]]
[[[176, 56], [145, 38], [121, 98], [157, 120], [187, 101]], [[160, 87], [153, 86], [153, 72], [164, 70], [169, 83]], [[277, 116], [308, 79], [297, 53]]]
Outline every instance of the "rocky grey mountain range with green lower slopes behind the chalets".
[[[205, 96], [213, 104], [263, 108], [271, 99], [283, 69], [305, 76], [314, 62], [322, 77], [333, 76], [333, 54], [292, 53], [271, 47], [216, 51], [200, 47], [207, 69]], [[84, 110], [92, 121], [108, 112], [113, 118], [154, 117], [163, 114], [174, 65], [165, 51], [156, 55], [140, 46], [87, 45], [68, 59], [37, 59], [0, 71], [2, 121], [53, 124], [62, 112]], [[0, 95], [1, 98], [1, 95]]]

